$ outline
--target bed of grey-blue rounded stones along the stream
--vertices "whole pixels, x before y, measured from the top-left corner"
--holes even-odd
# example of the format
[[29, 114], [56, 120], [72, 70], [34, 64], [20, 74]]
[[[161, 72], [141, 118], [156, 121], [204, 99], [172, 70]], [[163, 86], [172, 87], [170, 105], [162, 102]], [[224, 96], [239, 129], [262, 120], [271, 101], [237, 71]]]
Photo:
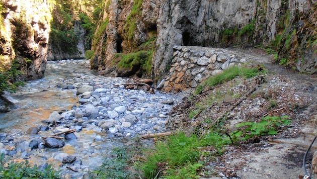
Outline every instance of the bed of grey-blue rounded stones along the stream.
[[[130, 90], [124, 85], [128, 80], [79, 73], [70, 79], [58, 78], [51, 87], [71, 92], [77, 103], [71, 109], [52, 111], [25, 130], [0, 133], [0, 152], [15, 161], [28, 159], [41, 167], [52, 164], [62, 175], [81, 178], [100, 166], [113, 148], [138, 135], [166, 131], [168, 114], [183, 95]], [[62, 134], [63, 139], [41, 138], [69, 129], [75, 132]]]

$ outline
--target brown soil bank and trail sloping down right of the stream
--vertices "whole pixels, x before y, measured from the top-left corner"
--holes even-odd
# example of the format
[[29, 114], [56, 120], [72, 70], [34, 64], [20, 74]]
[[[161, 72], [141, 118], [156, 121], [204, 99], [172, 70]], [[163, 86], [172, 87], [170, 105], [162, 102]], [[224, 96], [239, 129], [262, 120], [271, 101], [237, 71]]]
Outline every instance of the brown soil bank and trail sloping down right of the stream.
[[[202, 157], [205, 166], [201, 174], [205, 178], [299, 178], [305, 175], [304, 153], [317, 133], [317, 77], [276, 65], [272, 56], [260, 49], [244, 52], [255, 57], [250, 65], [264, 65], [268, 70], [265, 77], [261, 77], [260, 82], [258, 77], [239, 77], [205, 88], [202, 94], [174, 108], [172, 126], [197, 133], [208, 133], [210, 127], [216, 126], [222, 133], [229, 134], [241, 122], [287, 115], [291, 124], [279, 126], [276, 135], [234, 142], [220, 156]], [[193, 94], [192, 91], [186, 93]], [[202, 106], [204, 110], [200, 112]], [[200, 113], [193, 117], [195, 119], [189, 119], [189, 111], [194, 110]], [[307, 155], [308, 172], [316, 149], [317, 142]]]

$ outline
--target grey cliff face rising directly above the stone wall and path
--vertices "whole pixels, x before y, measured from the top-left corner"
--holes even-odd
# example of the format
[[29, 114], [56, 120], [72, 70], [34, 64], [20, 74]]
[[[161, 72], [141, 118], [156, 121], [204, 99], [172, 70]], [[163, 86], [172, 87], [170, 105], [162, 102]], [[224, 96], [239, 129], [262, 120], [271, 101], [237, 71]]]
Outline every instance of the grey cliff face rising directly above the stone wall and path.
[[[153, 57], [155, 74], [169, 64], [173, 45], [228, 46], [239, 45], [239, 41], [245, 43], [243, 45], [264, 47], [278, 43], [280, 58], [287, 58], [289, 63], [297, 61], [294, 66], [299, 71], [317, 72], [317, 55], [312, 52], [317, 46], [305, 47], [307, 37], [304, 35], [307, 31], [314, 31], [316, 38], [317, 26], [311, 25], [309, 29], [303, 23], [308, 22], [313, 14], [316, 5], [312, 1], [181, 2], [165, 1], [162, 5], [157, 20], [157, 51]], [[250, 29], [246, 28], [248, 26]], [[295, 33], [290, 35], [292, 31]], [[287, 42], [287, 38], [292, 42]], [[290, 51], [293, 54], [289, 54]]]

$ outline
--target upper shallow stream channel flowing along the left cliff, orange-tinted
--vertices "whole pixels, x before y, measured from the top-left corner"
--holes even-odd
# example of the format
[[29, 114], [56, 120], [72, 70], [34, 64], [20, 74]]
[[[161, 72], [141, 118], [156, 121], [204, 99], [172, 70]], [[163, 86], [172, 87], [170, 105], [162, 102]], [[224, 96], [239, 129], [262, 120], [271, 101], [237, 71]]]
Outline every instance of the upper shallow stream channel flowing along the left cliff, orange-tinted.
[[11, 94], [19, 108], [0, 114], [0, 131], [38, 125], [39, 121], [47, 119], [53, 111], [70, 109], [77, 102], [75, 92], [55, 86], [62, 79], [76, 75], [97, 75], [96, 71], [83, 67], [81, 62], [83, 60], [73, 60], [72, 63], [48, 61], [44, 78], [28, 81], [18, 93]]

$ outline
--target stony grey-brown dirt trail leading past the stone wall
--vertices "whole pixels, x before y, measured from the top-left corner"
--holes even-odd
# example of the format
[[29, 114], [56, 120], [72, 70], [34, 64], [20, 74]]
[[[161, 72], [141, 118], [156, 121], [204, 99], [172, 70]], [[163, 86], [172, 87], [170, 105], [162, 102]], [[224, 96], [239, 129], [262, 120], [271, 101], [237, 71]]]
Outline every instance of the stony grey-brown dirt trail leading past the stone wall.
[[[227, 116], [224, 125], [228, 126], [229, 130], [236, 122], [261, 119], [263, 114], [288, 115], [292, 119], [291, 125], [274, 136], [261, 137], [260, 142], [226, 147], [224, 154], [210, 159], [209, 166], [205, 167], [202, 173], [214, 175], [205, 178], [299, 178], [300, 175], [305, 175], [302, 167], [305, 150], [317, 134], [317, 77], [299, 74], [274, 64], [272, 56], [260, 49], [248, 49], [244, 52], [254, 57], [254, 64], [264, 64], [269, 71], [267, 82], [258, 87], [252, 97], [236, 106], [231, 111], [231, 116], [230, 113]], [[235, 84], [232, 82], [223, 84], [213, 92], [230, 89], [229, 92], [241, 93], [239, 85], [240, 88], [243, 85], [233, 85]], [[206, 96], [211, 95], [212, 92]], [[203, 121], [206, 116], [215, 119], [216, 114], [225, 106], [221, 105], [214, 105], [211, 110], [203, 111], [196, 120]], [[308, 172], [315, 151], [317, 142], [307, 155]]]

